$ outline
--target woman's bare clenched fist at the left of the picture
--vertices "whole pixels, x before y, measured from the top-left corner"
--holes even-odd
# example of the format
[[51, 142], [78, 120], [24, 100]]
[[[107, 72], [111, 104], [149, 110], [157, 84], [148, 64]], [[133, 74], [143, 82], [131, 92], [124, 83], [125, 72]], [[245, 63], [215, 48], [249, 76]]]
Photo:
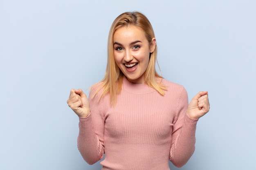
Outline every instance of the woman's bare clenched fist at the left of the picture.
[[90, 114], [89, 100], [81, 89], [71, 89], [67, 104], [79, 117], [87, 117]]

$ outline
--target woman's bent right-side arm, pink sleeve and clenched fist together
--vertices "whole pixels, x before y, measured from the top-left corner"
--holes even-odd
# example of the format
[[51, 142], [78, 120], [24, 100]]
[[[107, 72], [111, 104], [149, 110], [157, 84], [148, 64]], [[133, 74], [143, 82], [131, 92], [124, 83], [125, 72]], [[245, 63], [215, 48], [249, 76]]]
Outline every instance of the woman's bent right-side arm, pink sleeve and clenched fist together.
[[170, 161], [177, 167], [182, 167], [189, 161], [195, 150], [195, 129], [200, 117], [209, 109], [208, 92], [199, 92], [187, 106], [186, 90], [183, 89], [178, 100], [178, 113], [175, 119]]

